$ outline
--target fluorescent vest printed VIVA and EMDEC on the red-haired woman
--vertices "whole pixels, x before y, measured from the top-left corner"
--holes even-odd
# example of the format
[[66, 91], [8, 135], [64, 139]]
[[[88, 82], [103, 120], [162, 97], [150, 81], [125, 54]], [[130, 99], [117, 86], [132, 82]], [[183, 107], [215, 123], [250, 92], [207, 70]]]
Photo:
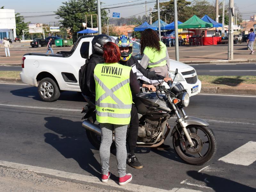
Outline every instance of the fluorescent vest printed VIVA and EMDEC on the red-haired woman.
[[131, 67], [97, 64], [94, 69], [96, 119], [99, 123], [129, 124], [132, 108]]

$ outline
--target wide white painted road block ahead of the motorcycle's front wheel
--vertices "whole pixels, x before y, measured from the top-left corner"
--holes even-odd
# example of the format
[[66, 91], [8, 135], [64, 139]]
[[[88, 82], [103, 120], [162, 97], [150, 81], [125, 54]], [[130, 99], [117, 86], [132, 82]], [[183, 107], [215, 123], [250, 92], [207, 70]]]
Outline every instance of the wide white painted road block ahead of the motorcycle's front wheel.
[[228, 155], [221, 157], [219, 161], [245, 166], [252, 164], [256, 161], [256, 142], [249, 141]]

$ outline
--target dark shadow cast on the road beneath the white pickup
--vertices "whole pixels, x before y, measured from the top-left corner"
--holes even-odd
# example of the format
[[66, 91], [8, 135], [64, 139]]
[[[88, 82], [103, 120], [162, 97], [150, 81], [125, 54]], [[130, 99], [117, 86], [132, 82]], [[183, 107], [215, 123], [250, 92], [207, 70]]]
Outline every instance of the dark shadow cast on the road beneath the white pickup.
[[[10, 92], [16, 96], [30, 97], [34, 100], [42, 101], [37, 92], [37, 87], [27, 87], [23, 89], [12, 90]], [[58, 100], [83, 102], [84, 98], [81, 93], [73, 91], [63, 91], [60, 93], [60, 97]]]

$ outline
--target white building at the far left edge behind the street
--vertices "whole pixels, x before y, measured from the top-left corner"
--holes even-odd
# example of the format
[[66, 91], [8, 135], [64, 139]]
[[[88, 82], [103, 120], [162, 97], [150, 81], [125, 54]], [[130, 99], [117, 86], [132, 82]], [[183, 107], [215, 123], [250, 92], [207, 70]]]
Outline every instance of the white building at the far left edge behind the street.
[[0, 40], [4, 37], [16, 37], [16, 21], [14, 9], [0, 9]]

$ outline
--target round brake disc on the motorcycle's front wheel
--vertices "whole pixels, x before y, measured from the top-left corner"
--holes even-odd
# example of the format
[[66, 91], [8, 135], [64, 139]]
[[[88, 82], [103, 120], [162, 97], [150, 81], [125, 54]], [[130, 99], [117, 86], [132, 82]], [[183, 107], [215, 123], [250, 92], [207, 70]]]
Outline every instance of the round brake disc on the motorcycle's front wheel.
[[194, 143], [194, 147], [189, 146], [188, 140], [185, 142], [185, 150], [191, 154], [198, 154], [203, 148], [203, 141], [196, 133], [189, 133], [191, 140]]

